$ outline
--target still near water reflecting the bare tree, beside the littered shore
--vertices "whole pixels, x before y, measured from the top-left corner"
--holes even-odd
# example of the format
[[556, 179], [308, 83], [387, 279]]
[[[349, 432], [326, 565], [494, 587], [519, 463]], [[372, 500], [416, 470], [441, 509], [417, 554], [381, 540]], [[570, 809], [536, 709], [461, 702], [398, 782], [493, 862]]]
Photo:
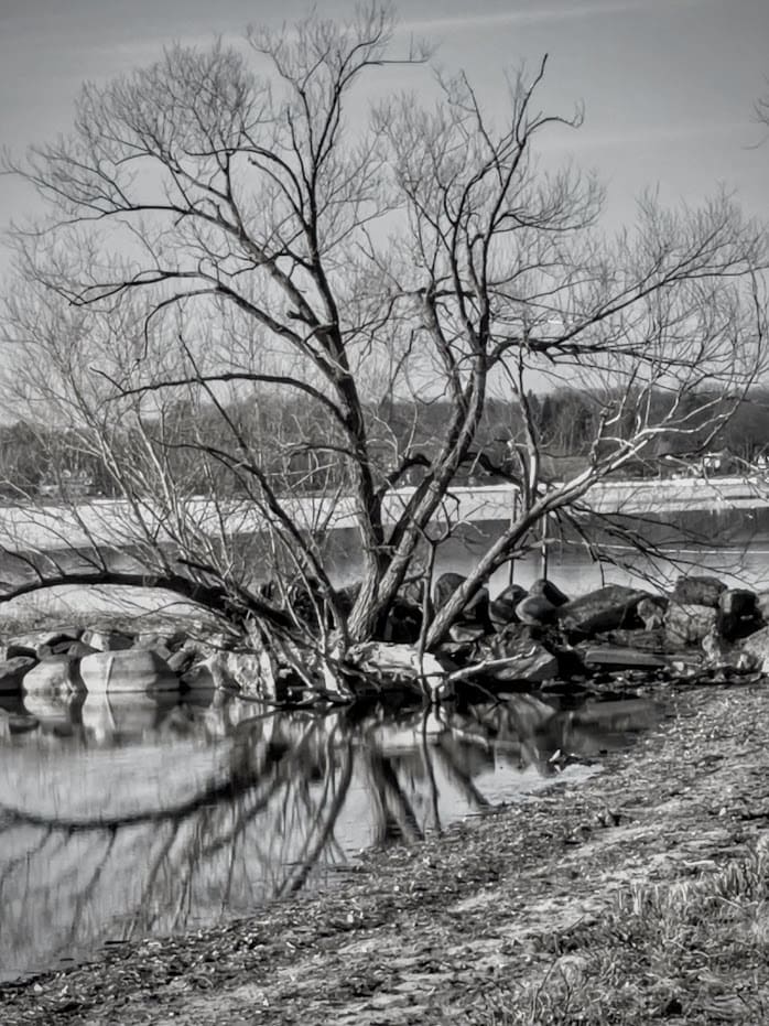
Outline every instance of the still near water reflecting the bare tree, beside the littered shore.
[[426, 714], [278, 712], [210, 691], [9, 700], [0, 976], [329, 885], [360, 849], [489, 811], [555, 773], [556, 753], [593, 758], [656, 715], [532, 695]]

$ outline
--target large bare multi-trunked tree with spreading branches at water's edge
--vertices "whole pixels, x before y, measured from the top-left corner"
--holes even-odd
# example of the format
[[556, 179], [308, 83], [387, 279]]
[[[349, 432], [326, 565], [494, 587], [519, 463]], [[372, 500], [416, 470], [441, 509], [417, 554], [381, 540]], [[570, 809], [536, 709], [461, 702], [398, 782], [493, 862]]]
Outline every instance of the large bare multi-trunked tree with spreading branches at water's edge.
[[[479, 430], [501, 400], [516, 514], [446, 603], [425, 602], [429, 649], [543, 522], [584, 531], [593, 485], [671, 441], [707, 444], [756, 380], [760, 233], [727, 197], [646, 197], [608, 236], [596, 181], [538, 153], [581, 122], [540, 109], [544, 61], [491, 118], [464, 74], [398, 41], [372, 6], [174, 45], [84, 86], [68, 134], [7, 158], [46, 212], [13, 233], [7, 390], [46, 425], [50, 473], [98, 465], [115, 499], [84, 505], [62, 480], [53, 522], [20, 496], [7, 546], [29, 572], [7, 595], [151, 582], [338, 666], [452, 530], [452, 487], [488, 463]], [[421, 94], [393, 91], [394, 73], [427, 76]], [[557, 480], [535, 393], [564, 382], [591, 438]], [[356, 536], [351, 597], [332, 528]]]

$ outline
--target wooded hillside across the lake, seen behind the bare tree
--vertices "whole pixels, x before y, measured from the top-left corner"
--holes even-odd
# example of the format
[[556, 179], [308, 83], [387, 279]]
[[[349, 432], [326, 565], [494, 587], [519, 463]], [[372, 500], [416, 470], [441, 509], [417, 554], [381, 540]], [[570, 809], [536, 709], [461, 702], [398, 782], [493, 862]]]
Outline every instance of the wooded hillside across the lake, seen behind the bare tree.
[[[606, 395], [559, 388], [544, 395], [530, 393], [546, 476], [560, 479], [578, 473], [587, 464]], [[662, 407], [665, 393], [657, 402]], [[726, 403], [726, 399], [724, 400]], [[441, 442], [447, 418], [447, 403], [436, 399], [415, 401], [392, 398], [368, 410], [372, 462], [384, 479], [403, 460], [407, 471], [392, 480], [393, 487], [418, 484]], [[456, 476], [457, 485], [515, 480], [511, 452], [522, 443], [520, 407], [515, 401], [489, 399], [476, 445]], [[262, 465], [279, 490], [316, 494], [344, 486], [343, 465], [324, 458], [324, 443], [334, 442], [334, 426], [318, 415], [317, 408], [285, 396], [262, 392], [226, 408], [249, 439], [252, 451], [261, 454]], [[628, 414], [629, 415], [629, 414]], [[201, 445], [215, 446], [229, 430], [221, 410], [212, 403], [175, 400], [161, 413], [148, 414], [144, 429], [154, 436], [159, 455], [171, 461], [174, 475], [186, 482], [189, 495], [213, 492], [226, 497], [237, 489], [230, 475], [212, 479], [210, 468], [202, 467], [196, 453]], [[632, 424], [620, 425], [629, 436]], [[769, 452], [769, 388], [750, 391], [715, 438], [703, 430], [686, 440], [664, 439], [649, 461], [637, 461], [622, 469], [624, 478], [660, 474], [694, 474], [707, 444], [722, 454], [721, 473], [749, 473]], [[126, 445], [130, 438], [126, 434]], [[109, 467], [99, 458], [98, 446], [88, 433], [73, 428], [17, 420], [0, 425], [0, 494], [9, 500], [78, 487], [84, 495], [113, 497], [119, 486]], [[236, 492], [237, 494], [237, 492]]]

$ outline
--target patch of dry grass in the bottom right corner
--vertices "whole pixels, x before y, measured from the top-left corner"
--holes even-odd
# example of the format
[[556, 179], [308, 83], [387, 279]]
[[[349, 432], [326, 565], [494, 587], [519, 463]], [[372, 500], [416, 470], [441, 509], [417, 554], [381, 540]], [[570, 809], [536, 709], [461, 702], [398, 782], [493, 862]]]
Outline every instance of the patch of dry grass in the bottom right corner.
[[769, 1022], [769, 851], [697, 878], [632, 885], [599, 921], [553, 933], [535, 982], [494, 987], [485, 1026]]

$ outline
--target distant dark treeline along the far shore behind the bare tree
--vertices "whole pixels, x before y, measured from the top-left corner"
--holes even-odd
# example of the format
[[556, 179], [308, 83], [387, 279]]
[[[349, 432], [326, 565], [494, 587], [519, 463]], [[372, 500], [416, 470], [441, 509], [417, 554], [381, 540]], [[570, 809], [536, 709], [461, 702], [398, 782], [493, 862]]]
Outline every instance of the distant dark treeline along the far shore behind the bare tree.
[[[546, 395], [530, 393], [527, 401], [544, 475], [560, 477], [578, 469], [600, 430], [607, 395], [561, 388]], [[667, 401], [662, 391], [652, 398], [660, 408]], [[636, 408], [632, 402], [620, 406], [619, 397], [616, 403], [620, 415], [610, 433], [630, 436]], [[727, 400], [723, 403], [726, 411]], [[448, 417], [448, 403], [442, 400], [393, 398], [371, 407], [369, 452], [380, 483], [419, 480], [445, 436]], [[512, 453], [523, 438], [520, 404], [489, 399], [461, 478], [505, 479], [515, 469]], [[657, 474], [661, 464], [674, 468], [678, 460], [695, 460], [704, 447], [728, 452], [735, 467], [750, 465], [767, 453], [769, 388], [756, 389], [743, 400], [715, 438], [696, 431], [685, 440], [663, 435], [647, 458], [628, 473]], [[223, 455], [234, 457], [236, 451], [238, 461]], [[120, 461], [108, 458], [107, 452]], [[286, 402], [284, 397], [266, 393], [218, 409], [204, 402], [176, 401], [140, 425], [116, 428], [108, 440], [87, 428], [54, 429], [31, 420], [0, 425], [0, 488], [6, 496], [32, 495], [41, 489], [50, 494], [56, 488], [65, 494], [77, 483], [90, 494], [113, 496], [121, 488], [110, 467], [118, 462], [130, 464], [132, 456], [142, 462], [149, 455], [149, 464], [172, 475], [191, 495], [243, 490], [253, 482], [249, 461], [278, 490], [339, 488], [349, 473], [344, 438], [322, 407], [305, 399]]]

